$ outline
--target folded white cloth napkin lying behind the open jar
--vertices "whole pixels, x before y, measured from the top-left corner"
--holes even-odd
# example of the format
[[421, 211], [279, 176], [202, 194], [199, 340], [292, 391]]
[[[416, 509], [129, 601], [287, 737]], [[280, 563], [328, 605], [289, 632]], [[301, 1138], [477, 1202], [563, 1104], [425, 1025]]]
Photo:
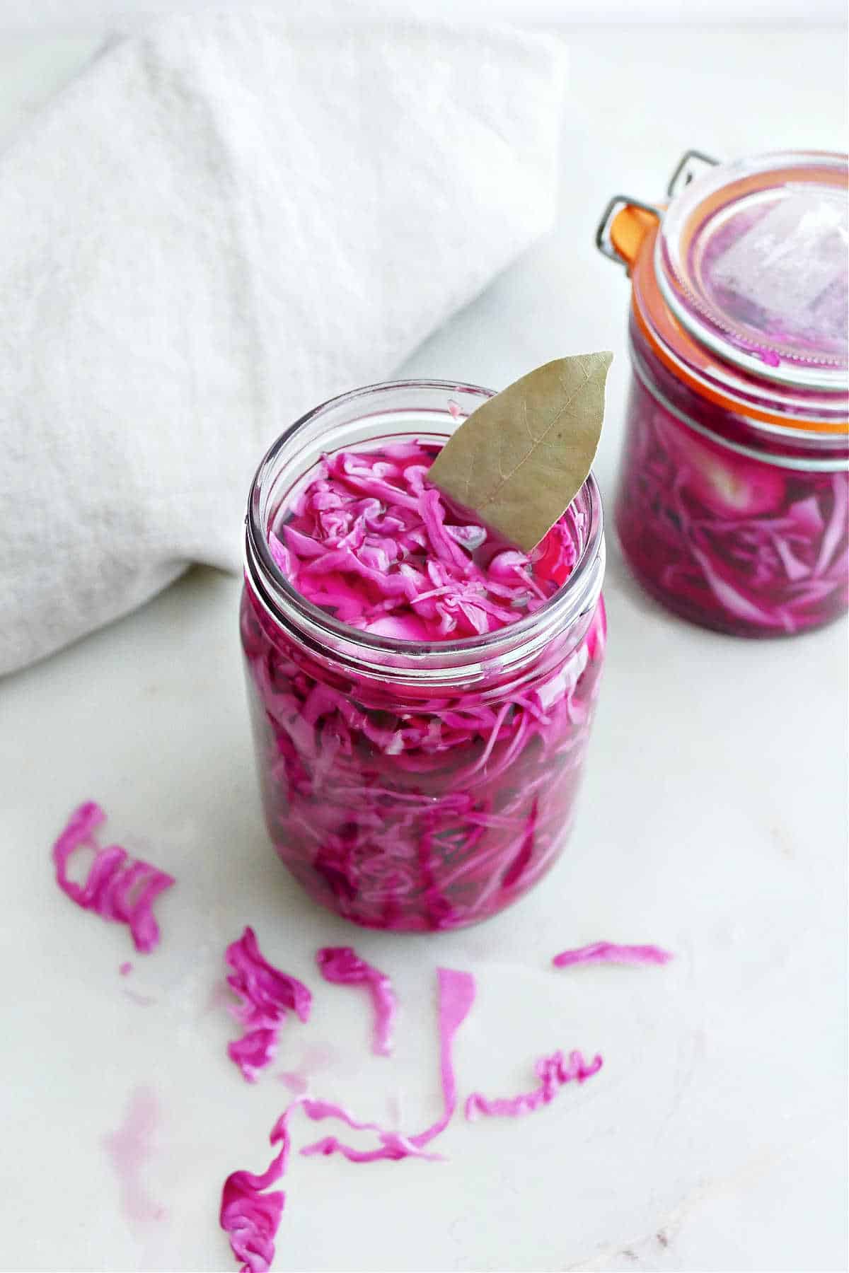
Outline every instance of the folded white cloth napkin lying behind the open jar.
[[193, 561], [239, 569], [283, 428], [387, 378], [550, 224], [563, 80], [544, 36], [193, 14], [15, 139], [0, 672]]

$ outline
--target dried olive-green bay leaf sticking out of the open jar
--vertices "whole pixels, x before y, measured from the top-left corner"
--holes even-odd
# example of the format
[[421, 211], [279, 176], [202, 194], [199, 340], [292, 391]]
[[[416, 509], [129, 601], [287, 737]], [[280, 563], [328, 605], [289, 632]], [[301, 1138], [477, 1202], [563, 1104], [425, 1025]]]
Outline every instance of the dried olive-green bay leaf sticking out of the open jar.
[[472, 411], [428, 480], [530, 552], [580, 490], [596, 457], [614, 355], [558, 358]]

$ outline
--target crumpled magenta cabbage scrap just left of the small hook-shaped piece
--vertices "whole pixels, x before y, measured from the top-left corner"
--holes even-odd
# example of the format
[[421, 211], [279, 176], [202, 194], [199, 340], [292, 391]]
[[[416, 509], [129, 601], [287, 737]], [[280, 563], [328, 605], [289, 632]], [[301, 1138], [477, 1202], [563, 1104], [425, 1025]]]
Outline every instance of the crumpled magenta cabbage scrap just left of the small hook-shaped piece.
[[230, 1011], [246, 1027], [241, 1039], [228, 1044], [227, 1054], [253, 1083], [276, 1054], [285, 1016], [294, 1012], [307, 1021], [312, 995], [303, 981], [269, 964], [252, 928], [246, 928], [242, 937], [227, 947], [224, 959], [233, 969], [227, 984], [241, 1001]]

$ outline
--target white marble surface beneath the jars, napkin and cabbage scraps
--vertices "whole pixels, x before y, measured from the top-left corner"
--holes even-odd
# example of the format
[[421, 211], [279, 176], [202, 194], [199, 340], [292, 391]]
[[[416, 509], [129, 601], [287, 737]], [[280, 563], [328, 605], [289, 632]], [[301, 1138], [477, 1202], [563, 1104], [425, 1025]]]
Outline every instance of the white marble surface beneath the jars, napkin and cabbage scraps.
[[[0, 32], [1, 32], [0, 24]], [[406, 370], [493, 386], [573, 349], [617, 353], [598, 463], [611, 491], [626, 382], [626, 284], [592, 232], [610, 193], [657, 195], [681, 150], [845, 149], [845, 38], [570, 34], [563, 214]], [[79, 65], [88, 38], [0, 37], [0, 129]], [[389, 374], [393, 368], [387, 368]], [[356, 995], [322, 988], [281, 1067], [403, 1125], [439, 1108], [434, 969], [472, 970], [461, 1085], [530, 1086], [554, 1046], [605, 1068], [522, 1123], [465, 1124], [451, 1161], [293, 1161], [277, 1269], [831, 1270], [845, 1268], [845, 628], [747, 644], [647, 602], [611, 544], [610, 654], [569, 852], [516, 910], [465, 933], [351, 933], [279, 869], [260, 820], [235, 625], [238, 584], [195, 573], [153, 605], [0, 685], [4, 1269], [233, 1267], [220, 1183], [261, 1170], [284, 1097], [224, 1057], [221, 950], [255, 924], [312, 976], [326, 942], [389, 970], [397, 1057], [367, 1050]], [[56, 889], [50, 844], [84, 797], [172, 869], [160, 950]], [[598, 938], [657, 941], [666, 969], [556, 973]], [[131, 959], [123, 979], [118, 964]], [[134, 992], [136, 998], [131, 998]], [[137, 997], [153, 1002], [140, 1003]], [[102, 1146], [155, 1092], [141, 1180], [165, 1220], [130, 1221]]]

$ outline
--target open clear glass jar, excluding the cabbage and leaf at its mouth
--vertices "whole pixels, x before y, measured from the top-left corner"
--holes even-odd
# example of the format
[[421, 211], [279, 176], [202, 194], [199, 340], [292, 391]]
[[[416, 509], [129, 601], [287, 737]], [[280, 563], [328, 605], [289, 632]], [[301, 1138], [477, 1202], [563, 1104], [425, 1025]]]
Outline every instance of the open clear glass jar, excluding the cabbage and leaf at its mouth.
[[241, 630], [269, 834], [314, 901], [369, 928], [476, 923], [561, 852], [605, 651], [598, 489], [591, 475], [572, 505], [566, 583], [462, 640], [340, 622], [286, 580], [269, 531], [322, 453], [444, 443], [489, 396], [442, 381], [345, 393], [275, 442], [249, 494]]

